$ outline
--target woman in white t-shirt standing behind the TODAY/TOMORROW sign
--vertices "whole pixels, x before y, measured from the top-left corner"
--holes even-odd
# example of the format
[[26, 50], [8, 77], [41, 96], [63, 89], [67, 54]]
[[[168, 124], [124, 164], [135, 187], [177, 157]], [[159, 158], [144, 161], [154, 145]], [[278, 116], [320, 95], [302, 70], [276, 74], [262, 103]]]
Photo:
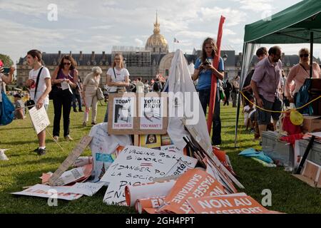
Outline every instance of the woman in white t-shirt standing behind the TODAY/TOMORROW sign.
[[[113, 67], [107, 71], [107, 86], [109, 93], [125, 93], [126, 86], [129, 86], [129, 73], [124, 68], [123, 56], [116, 53], [113, 58]], [[108, 105], [103, 122], [108, 122]]]

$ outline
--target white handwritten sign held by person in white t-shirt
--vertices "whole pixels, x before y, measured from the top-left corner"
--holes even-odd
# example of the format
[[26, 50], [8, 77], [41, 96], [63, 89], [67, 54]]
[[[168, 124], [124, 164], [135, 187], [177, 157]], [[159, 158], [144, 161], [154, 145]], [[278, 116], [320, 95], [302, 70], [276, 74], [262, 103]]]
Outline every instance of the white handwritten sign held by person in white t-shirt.
[[36, 109], [36, 106], [34, 106], [29, 110], [29, 115], [37, 135], [50, 125], [50, 121], [44, 105], [42, 105], [40, 109]]

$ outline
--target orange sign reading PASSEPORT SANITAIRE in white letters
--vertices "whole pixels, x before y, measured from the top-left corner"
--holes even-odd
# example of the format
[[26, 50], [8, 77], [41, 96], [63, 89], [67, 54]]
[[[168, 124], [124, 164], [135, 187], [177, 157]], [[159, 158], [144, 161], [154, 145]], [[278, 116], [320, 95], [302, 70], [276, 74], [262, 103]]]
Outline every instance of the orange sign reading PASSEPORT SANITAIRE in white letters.
[[193, 214], [187, 199], [224, 194], [223, 186], [207, 172], [199, 169], [188, 170], [178, 178], [165, 198], [164, 206], [160, 207], [158, 212]]

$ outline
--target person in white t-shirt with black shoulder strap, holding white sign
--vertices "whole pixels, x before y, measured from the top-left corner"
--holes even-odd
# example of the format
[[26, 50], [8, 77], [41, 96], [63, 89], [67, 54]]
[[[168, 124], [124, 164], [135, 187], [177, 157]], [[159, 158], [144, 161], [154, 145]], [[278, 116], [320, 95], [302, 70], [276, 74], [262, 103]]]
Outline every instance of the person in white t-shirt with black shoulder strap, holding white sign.
[[[39, 50], [28, 51], [27, 63], [32, 67], [29, 72], [29, 79], [25, 86], [29, 88], [30, 98], [34, 100], [36, 108], [39, 109], [44, 105], [47, 110], [49, 105], [49, 93], [51, 91], [50, 73], [48, 68], [42, 66], [42, 55]], [[39, 80], [37, 80], [39, 78]], [[38, 85], [36, 84], [38, 81]], [[46, 130], [38, 135], [39, 147], [34, 150], [38, 155], [46, 154]]]

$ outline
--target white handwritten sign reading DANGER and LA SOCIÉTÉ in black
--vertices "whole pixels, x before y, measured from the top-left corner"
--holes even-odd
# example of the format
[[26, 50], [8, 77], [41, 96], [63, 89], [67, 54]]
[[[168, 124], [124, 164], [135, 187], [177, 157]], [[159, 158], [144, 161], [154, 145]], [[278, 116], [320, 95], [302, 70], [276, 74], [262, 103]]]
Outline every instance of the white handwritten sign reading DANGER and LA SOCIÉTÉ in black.
[[154, 178], [165, 177], [179, 161], [185, 164], [184, 169], [178, 170], [181, 173], [188, 167], [195, 167], [197, 162], [195, 158], [185, 155], [144, 147], [125, 147], [101, 178], [101, 181], [109, 183], [103, 201], [107, 204], [125, 201], [126, 185], [153, 182]]

